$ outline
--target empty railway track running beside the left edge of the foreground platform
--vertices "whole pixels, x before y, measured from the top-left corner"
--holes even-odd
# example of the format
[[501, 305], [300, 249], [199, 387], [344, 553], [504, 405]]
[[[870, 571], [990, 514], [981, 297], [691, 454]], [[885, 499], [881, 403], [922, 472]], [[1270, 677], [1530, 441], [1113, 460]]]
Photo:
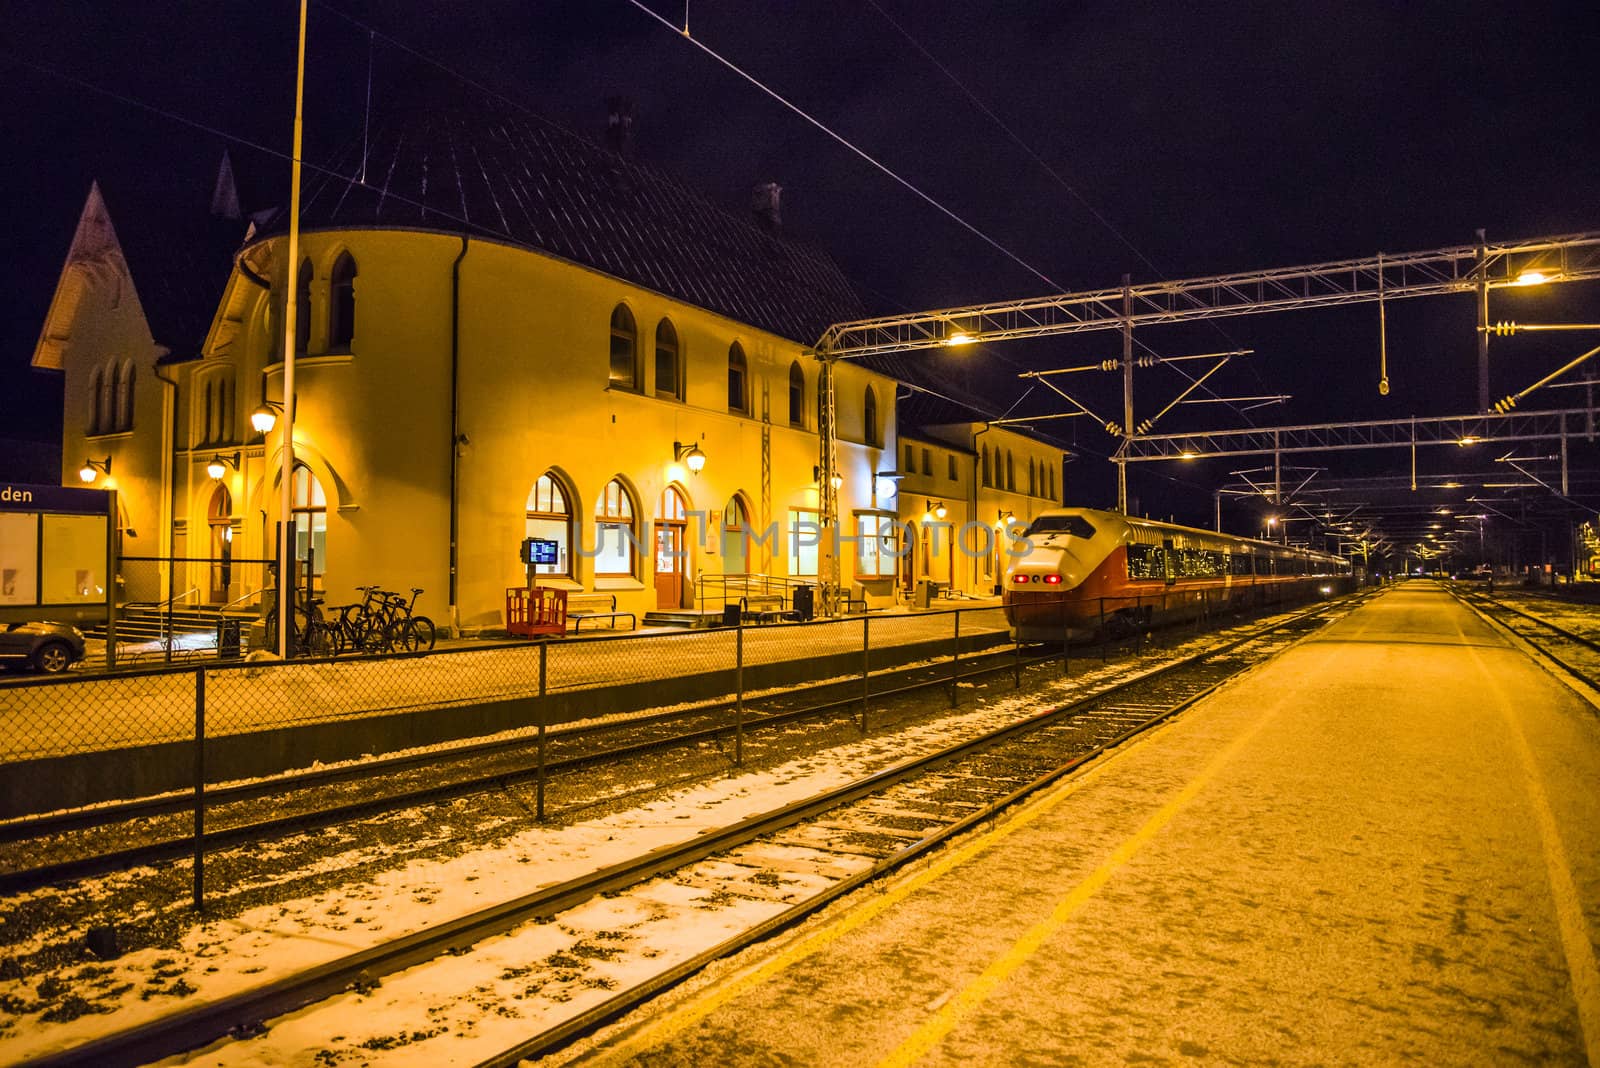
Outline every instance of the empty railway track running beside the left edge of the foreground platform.
[[[522, 1038], [485, 1063], [510, 1065], [539, 1055], [642, 1004], [709, 961], [770, 937], [981, 825], [1187, 708], [1226, 679], [1270, 659], [1352, 606], [1346, 600], [1280, 619], [1136, 679], [1106, 686], [1070, 703], [1040, 710], [981, 737], [906, 759], [794, 804], [37, 1063], [144, 1063], [227, 1034], [258, 1034], [269, 1020], [286, 1012], [317, 1012], [307, 1006], [349, 990], [371, 990], [382, 975], [445, 954], [453, 958], [450, 967], [459, 972], [461, 954], [472, 956], [477, 951], [474, 946], [491, 935], [530, 921], [549, 921], [597, 895], [648, 892], [650, 886], [659, 886], [662, 876], [704, 892], [709, 900], [749, 899], [752, 894], [766, 897], [768, 915], [758, 923], [715, 946], [667, 962], [646, 982], [632, 983], [555, 1026]], [[501, 964], [490, 962], [488, 967], [493, 975]], [[426, 972], [426, 967], [418, 970]], [[510, 974], [507, 969], [501, 980]], [[414, 975], [408, 974], [406, 980]], [[531, 990], [538, 990], [538, 983]]]

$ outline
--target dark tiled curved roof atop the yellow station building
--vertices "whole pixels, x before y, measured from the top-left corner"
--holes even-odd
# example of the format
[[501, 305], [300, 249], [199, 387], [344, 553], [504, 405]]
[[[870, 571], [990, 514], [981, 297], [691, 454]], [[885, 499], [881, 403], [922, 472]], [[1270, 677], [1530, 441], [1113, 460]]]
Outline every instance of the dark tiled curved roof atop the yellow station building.
[[461, 106], [392, 115], [362, 153], [357, 139], [330, 168], [346, 177], [307, 181], [302, 227], [467, 230], [803, 344], [862, 315], [826, 253], [536, 118]]

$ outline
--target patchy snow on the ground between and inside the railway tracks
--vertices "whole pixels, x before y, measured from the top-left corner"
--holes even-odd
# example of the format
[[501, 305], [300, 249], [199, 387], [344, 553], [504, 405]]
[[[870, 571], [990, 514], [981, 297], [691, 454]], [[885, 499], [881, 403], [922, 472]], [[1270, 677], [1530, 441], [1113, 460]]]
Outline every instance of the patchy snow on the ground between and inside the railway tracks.
[[[1178, 656], [1182, 656], [1181, 649], [1162, 659], [1142, 660], [1136, 667], [1154, 670]], [[14, 1062], [67, 1049], [110, 1030], [157, 1018], [181, 1007], [189, 998], [237, 993], [650, 849], [693, 839], [706, 830], [830, 790], [912, 755], [954, 745], [1010, 723], [1038, 705], [1058, 703], [1086, 683], [1126, 671], [1126, 662], [1094, 665], [1093, 671], [1054, 679], [978, 708], [954, 711], [893, 737], [864, 739], [766, 771], [698, 783], [632, 811], [570, 827], [525, 830], [491, 849], [472, 849], [470, 843], [462, 843], [458, 855], [416, 860], [365, 884], [254, 908], [230, 919], [200, 921], [182, 940], [181, 951], [144, 950], [104, 964], [64, 969], [58, 975], [0, 980], [0, 1006], [10, 1012], [0, 1020], [0, 1060]], [[427, 817], [419, 815], [419, 822], [426, 825]], [[349, 862], [350, 857], [334, 855], [323, 863], [328, 870], [338, 870]], [[78, 892], [104, 894], [106, 881], [117, 878], [88, 881]], [[680, 892], [702, 894], [670, 883], [651, 889], [651, 894]], [[627, 900], [627, 908], [638, 910], [643, 908], [638, 902], [648, 897], [629, 895]], [[483, 978], [486, 972], [480, 966], [470, 966], [478, 953], [456, 958], [438, 972], [432, 970], [435, 966], [424, 966], [414, 969], [419, 974], [414, 986], [402, 977], [390, 977], [370, 996], [350, 994], [331, 1006], [312, 1007], [286, 1025], [274, 1026], [262, 1038], [208, 1054], [203, 1063], [326, 1065], [346, 1063], [347, 1057], [352, 1058], [349, 1063], [451, 1063], [443, 1058], [443, 1050], [432, 1049], [438, 1042], [422, 1052], [418, 1049], [421, 1042], [410, 1038], [440, 1026], [450, 1028], [448, 1034], [462, 1050], [475, 1047], [475, 1052], [461, 1055], [477, 1058], [504, 1038], [506, 1026], [514, 1026], [515, 1034], [530, 1034], [606, 996], [611, 986], [632, 982], [634, 975], [608, 972], [606, 946], [626, 942], [638, 967], [659, 970], [670, 961], [720, 942], [726, 932], [742, 929], [750, 916], [771, 915], [781, 908], [744, 900], [725, 903], [730, 908], [718, 908], [715, 915], [707, 911], [704, 923], [666, 924], [658, 931], [638, 921], [635, 913], [629, 919], [606, 911], [608, 907], [621, 910], [622, 905], [613, 905], [606, 899], [590, 902], [563, 915], [557, 924], [530, 924], [485, 943], [493, 945], [493, 951], [482, 959], [501, 967], [501, 978], [490, 982], [493, 975]], [[117, 918], [106, 918], [107, 923], [114, 919]], [[602, 937], [603, 932], [611, 934]], [[518, 974], [517, 969], [547, 962], [562, 953], [598, 962], [574, 972], [571, 982], [539, 990], [515, 986], [515, 980], [528, 974]], [[477, 975], [472, 986], [461, 985], [461, 977], [450, 977], [451, 967], [469, 966]], [[438, 978], [440, 975], [445, 978]], [[43, 1018], [48, 1014], [40, 1014], [43, 1006], [35, 998], [38, 986], [48, 983], [67, 983], [88, 1002], [90, 1010], [59, 1023]], [[38, 1007], [29, 1012], [30, 1004]], [[498, 1020], [504, 1020], [506, 1026]], [[334, 1042], [334, 1034], [342, 1038]], [[469, 1034], [478, 1034], [483, 1044], [467, 1042]], [[341, 1054], [330, 1060], [330, 1054], [320, 1050], [331, 1046], [339, 1046]], [[450, 1049], [453, 1058], [459, 1050], [456, 1044]]]

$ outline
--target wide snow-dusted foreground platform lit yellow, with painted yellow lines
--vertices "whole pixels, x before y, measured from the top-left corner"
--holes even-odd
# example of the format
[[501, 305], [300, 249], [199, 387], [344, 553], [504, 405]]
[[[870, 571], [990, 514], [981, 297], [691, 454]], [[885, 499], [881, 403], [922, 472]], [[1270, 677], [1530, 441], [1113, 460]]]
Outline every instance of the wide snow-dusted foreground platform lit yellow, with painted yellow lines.
[[1595, 700], [1405, 584], [603, 1042], [685, 1065], [1600, 1063]]

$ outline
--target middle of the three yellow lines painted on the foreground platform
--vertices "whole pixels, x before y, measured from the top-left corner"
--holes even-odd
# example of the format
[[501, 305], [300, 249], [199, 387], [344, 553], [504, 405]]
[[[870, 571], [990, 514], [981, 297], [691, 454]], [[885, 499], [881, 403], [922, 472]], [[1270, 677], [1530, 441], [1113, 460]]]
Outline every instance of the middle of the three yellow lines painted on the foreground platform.
[[1218, 772], [1221, 772], [1229, 761], [1238, 756], [1240, 750], [1254, 740], [1261, 729], [1272, 721], [1274, 716], [1277, 716], [1280, 708], [1283, 708], [1282, 703], [1274, 705], [1259, 719], [1256, 719], [1250, 729], [1229, 742], [1227, 748], [1211, 758], [1211, 763], [1206, 764], [1200, 774], [1190, 779], [1182, 790], [1157, 809], [1155, 815], [1146, 820], [1144, 827], [1136, 830], [1130, 838], [1117, 846], [1104, 863], [1072, 887], [1072, 891], [1056, 903], [1050, 916], [1034, 924], [1021, 938], [1011, 943], [1011, 948], [986, 967], [978, 978], [950, 998], [933, 1017], [917, 1028], [910, 1038], [901, 1042], [894, 1052], [880, 1060], [878, 1068], [899, 1068], [902, 1065], [910, 1065], [944, 1039], [944, 1036], [949, 1034], [963, 1017], [982, 1004], [984, 999], [987, 999], [1006, 977], [1038, 953], [1045, 942], [1048, 942], [1067, 924], [1067, 921], [1072, 919], [1074, 913], [1086, 905], [1120, 868], [1133, 860], [1139, 851], [1144, 849], [1150, 839], [1154, 839], [1162, 828], [1173, 820], [1173, 817], [1194, 801], [1195, 796], [1213, 779], [1216, 779]]

